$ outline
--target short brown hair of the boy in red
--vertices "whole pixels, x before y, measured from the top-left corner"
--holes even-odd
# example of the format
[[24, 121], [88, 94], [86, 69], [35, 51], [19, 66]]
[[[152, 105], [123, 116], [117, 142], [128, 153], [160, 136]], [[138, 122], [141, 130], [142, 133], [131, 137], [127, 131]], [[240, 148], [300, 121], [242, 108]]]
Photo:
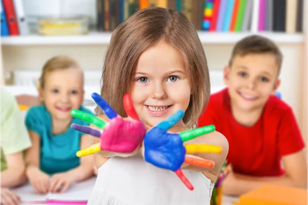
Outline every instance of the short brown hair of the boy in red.
[[233, 48], [229, 66], [232, 65], [235, 56], [245, 56], [248, 54], [273, 54], [277, 61], [278, 75], [280, 73], [283, 55], [278, 46], [269, 38], [260, 35], [250, 35], [244, 37]]

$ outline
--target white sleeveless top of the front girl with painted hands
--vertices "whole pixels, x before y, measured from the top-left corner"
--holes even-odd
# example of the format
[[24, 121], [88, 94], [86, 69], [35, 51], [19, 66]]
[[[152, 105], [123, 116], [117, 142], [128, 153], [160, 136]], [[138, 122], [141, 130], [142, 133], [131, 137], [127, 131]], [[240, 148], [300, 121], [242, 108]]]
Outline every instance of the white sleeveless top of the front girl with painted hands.
[[200, 172], [183, 170], [190, 191], [172, 171], [147, 163], [141, 153], [111, 157], [98, 169], [89, 205], [209, 205], [214, 183]]

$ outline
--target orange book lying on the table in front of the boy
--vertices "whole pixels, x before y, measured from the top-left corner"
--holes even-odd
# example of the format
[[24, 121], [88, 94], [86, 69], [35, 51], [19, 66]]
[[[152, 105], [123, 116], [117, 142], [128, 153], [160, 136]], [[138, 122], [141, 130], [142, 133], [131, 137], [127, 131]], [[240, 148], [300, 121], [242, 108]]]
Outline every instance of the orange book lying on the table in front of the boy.
[[266, 185], [240, 196], [239, 205], [306, 205], [307, 190]]

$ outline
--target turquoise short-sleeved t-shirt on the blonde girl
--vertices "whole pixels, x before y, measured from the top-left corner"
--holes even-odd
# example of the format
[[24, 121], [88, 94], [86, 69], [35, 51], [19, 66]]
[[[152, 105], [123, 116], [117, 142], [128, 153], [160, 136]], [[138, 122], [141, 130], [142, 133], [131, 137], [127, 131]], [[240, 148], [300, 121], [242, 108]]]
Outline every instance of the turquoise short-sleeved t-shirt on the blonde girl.
[[[93, 114], [90, 110], [80, 107], [81, 111]], [[26, 127], [41, 137], [40, 169], [47, 174], [65, 172], [80, 164], [76, 152], [80, 150], [82, 132], [71, 127], [65, 133], [53, 135], [51, 116], [44, 105], [30, 108], [26, 115]], [[88, 126], [89, 123], [72, 118], [71, 124]]]

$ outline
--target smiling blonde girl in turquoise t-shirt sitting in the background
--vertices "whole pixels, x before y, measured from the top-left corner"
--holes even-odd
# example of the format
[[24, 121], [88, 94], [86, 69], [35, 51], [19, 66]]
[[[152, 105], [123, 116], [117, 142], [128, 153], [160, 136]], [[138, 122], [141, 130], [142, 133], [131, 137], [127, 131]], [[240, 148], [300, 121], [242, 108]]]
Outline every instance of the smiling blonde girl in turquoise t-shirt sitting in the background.
[[32, 147], [26, 151], [26, 174], [36, 193], [65, 192], [68, 187], [93, 174], [93, 156], [78, 158], [75, 153], [89, 147], [88, 136], [73, 130], [72, 123], [88, 126], [73, 118], [72, 109], [81, 109], [84, 100], [83, 72], [76, 61], [56, 56], [43, 67], [39, 88], [43, 105], [29, 109], [26, 127]]

